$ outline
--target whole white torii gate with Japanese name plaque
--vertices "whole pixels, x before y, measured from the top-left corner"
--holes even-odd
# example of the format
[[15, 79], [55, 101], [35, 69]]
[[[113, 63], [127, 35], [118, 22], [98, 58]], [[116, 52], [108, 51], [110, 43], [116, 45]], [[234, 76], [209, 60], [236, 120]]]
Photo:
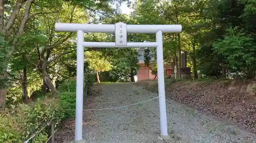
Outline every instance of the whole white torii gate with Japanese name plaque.
[[[160, 136], [168, 137], [167, 117], [164, 88], [163, 66], [163, 38], [162, 33], [179, 33], [181, 25], [126, 25], [116, 24], [78, 24], [78, 23], [55, 23], [56, 32], [77, 32], [77, 73], [76, 73], [76, 119], [75, 141], [82, 140], [82, 115], [83, 115], [83, 63], [84, 47], [156, 47], [157, 48], [157, 75], [158, 94], [160, 108]], [[115, 42], [84, 42], [84, 33], [115, 33]], [[156, 42], [128, 42], [127, 33], [156, 33]]]

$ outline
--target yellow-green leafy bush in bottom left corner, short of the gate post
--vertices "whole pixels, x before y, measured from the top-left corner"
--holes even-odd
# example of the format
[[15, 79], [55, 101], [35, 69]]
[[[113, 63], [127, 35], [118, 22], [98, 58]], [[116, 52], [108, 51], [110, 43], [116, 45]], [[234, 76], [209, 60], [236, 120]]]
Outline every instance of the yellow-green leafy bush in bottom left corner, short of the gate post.
[[[60, 122], [65, 111], [58, 99], [38, 100], [27, 105], [11, 105], [0, 116], [0, 142], [23, 142], [49, 122]], [[30, 142], [46, 142], [48, 131], [42, 130]]]

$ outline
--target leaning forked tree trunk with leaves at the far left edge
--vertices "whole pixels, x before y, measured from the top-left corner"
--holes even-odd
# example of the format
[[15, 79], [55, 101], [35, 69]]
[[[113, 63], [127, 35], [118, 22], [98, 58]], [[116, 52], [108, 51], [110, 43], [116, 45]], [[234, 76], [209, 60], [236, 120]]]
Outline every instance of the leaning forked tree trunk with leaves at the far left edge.
[[[8, 79], [7, 65], [10, 56], [13, 54], [16, 45], [18, 44], [18, 39], [23, 35], [28, 19], [33, 16], [30, 15], [30, 10], [34, 1], [35, 0], [0, 0], [0, 33], [2, 45], [0, 50], [4, 53], [1, 59], [5, 59], [3, 63], [1, 63], [2, 69], [0, 71], [0, 80], [2, 80], [0, 89], [0, 108], [2, 109], [5, 109], [7, 95], [7, 83], [3, 82]], [[8, 7], [12, 8], [12, 10], [8, 10]], [[16, 19], [18, 22], [16, 22]]]

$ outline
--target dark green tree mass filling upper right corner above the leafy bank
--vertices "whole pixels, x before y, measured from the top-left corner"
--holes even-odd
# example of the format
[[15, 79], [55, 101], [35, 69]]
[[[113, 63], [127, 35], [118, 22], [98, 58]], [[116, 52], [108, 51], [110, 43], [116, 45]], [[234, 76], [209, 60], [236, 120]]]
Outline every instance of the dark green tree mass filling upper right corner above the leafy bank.
[[[197, 50], [202, 75], [219, 77], [255, 77], [255, 5], [254, 1], [214, 1], [206, 3], [211, 11]], [[233, 28], [235, 27], [235, 28]], [[253, 36], [254, 35], [254, 36]], [[230, 74], [232, 73], [232, 74]]]

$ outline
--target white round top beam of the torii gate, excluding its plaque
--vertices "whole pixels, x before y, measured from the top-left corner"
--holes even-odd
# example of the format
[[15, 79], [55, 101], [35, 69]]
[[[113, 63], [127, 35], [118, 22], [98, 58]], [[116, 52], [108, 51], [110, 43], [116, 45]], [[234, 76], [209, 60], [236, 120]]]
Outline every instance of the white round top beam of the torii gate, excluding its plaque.
[[[127, 33], [180, 33], [181, 25], [126, 25]], [[115, 33], [115, 24], [55, 23], [56, 32]]]

